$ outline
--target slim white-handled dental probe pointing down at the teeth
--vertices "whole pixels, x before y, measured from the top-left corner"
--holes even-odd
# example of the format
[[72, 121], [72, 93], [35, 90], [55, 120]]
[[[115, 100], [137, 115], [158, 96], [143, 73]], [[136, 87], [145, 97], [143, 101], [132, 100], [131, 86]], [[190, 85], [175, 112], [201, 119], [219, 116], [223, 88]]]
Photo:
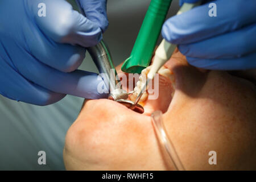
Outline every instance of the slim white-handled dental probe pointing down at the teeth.
[[[189, 11], [193, 7], [199, 6], [200, 4], [201, 4], [200, 1], [196, 2], [196, 3], [183, 3], [180, 10], [177, 12], [177, 15], [184, 13], [185, 11]], [[154, 78], [155, 73], [158, 73], [159, 69], [164, 65], [164, 63], [166, 63], [170, 59], [170, 57], [176, 47], [177, 47], [176, 44], [171, 44], [171, 43], [167, 42], [165, 39], [162, 40], [162, 42], [160, 43], [160, 45], [158, 46], [158, 48], [155, 51], [155, 57], [154, 57], [150, 72], [147, 74], [146, 83], [143, 85], [136, 100], [134, 101], [134, 104], [131, 106], [130, 109], [133, 109], [133, 107], [136, 104], [138, 104], [139, 100], [142, 97], [143, 92], [147, 88], [148, 82], [150, 82], [150, 80], [152, 80]]]

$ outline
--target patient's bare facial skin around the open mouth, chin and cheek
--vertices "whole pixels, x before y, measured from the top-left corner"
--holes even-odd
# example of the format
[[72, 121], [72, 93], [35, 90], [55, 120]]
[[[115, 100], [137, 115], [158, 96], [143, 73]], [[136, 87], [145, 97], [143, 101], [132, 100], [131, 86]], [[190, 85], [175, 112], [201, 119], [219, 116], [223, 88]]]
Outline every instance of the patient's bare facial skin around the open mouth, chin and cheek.
[[[185, 169], [256, 169], [256, 86], [228, 72], [192, 67], [178, 51], [164, 66], [174, 73], [175, 91], [159, 76], [159, 98], [144, 102], [144, 114], [106, 99], [85, 102], [65, 139], [66, 169], [174, 169], [151, 123], [155, 110], [163, 111]], [[216, 151], [216, 165], [209, 164], [209, 151]]]

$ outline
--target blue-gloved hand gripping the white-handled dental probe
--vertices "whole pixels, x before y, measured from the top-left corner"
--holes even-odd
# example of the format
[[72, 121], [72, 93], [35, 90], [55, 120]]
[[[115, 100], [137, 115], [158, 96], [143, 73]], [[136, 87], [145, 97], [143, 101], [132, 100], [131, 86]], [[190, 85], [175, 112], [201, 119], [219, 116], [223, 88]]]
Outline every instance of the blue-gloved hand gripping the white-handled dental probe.
[[[216, 17], [208, 15], [210, 2], [217, 5]], [[180, 52], [195, 67], [256, 68], [256, 1], [210, 2], [168, 19], [162, 28], [163, 38], [178, 44]]]

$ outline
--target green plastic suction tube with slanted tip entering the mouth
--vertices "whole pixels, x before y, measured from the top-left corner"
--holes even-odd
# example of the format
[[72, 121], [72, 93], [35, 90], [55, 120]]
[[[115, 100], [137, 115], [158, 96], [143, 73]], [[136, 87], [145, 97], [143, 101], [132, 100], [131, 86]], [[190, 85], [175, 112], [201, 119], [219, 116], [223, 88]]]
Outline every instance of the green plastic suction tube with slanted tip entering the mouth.
[[171, 2], [172, 0], [150, 2], [133, 51], [122, 65], [123, 72], [141, 73], [142, 69], [148, 67]]

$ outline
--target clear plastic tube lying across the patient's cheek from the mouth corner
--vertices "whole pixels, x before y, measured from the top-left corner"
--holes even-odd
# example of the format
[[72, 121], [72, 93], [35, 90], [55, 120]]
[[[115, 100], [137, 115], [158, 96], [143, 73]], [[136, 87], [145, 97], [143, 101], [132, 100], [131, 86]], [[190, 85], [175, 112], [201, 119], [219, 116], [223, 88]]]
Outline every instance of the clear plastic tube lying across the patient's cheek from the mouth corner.
[[151, 114], [151, 120], [155, 129], [156, 136], [159, 139], [160, 146], [162, 147], [168, 162], [171, 163], [177, 171], [185, 171], [185, 168], [183, 167], [183, 164], [177, 155], [174, 144], [172, 144], [171, 139], [168, 138], [166, 129], [163, 124], [162, 115], [162, 112], [159, 110]]

